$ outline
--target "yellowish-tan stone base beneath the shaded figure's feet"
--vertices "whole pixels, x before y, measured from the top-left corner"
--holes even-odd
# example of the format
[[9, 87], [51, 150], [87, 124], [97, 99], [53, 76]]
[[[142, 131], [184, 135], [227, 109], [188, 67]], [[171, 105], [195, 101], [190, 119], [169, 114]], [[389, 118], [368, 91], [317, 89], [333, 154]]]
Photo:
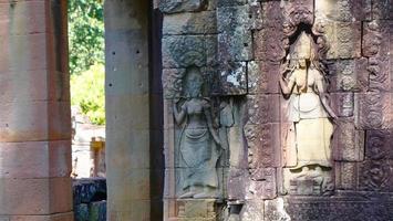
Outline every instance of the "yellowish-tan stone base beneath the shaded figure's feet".
[[216, 221], [216, 199], [178, 199], [175, 200], [176, 217], [169, 221]]

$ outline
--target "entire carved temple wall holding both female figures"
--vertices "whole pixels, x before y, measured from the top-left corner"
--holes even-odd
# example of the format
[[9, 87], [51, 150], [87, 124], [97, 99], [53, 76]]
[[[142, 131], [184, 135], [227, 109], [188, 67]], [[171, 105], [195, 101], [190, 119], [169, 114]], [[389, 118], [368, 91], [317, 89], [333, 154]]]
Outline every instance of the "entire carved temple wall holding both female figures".
[[164, 220], [392, 220], [392, 0], [161, 0]]

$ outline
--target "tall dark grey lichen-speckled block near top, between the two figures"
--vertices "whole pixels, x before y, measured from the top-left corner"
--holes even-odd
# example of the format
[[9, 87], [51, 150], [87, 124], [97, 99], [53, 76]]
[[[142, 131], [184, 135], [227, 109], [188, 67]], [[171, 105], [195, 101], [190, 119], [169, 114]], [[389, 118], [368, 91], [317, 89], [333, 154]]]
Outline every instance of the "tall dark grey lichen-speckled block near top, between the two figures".
[[249, 61], [252, 59], [252, 35], [248, 30], [248, 7], [217, 9], [218, 60]]

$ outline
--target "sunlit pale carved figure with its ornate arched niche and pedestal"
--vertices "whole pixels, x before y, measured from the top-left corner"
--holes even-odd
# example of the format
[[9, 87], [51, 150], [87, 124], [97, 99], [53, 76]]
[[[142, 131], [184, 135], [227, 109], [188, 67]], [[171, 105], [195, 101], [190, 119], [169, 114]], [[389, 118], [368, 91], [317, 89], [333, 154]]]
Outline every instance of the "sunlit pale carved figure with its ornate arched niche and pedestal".
[[[292, 8], [283, 22], [286, 56], [279, 83], [283, 93], [281, 123], [283, 146], [283, 188], [291, 196], [332, 194], [331, 139], [333, 109], [328, 101], [329, 43], [321, 23], [302, 4]], [[289, 124], [288, 124], [289, 123]]]

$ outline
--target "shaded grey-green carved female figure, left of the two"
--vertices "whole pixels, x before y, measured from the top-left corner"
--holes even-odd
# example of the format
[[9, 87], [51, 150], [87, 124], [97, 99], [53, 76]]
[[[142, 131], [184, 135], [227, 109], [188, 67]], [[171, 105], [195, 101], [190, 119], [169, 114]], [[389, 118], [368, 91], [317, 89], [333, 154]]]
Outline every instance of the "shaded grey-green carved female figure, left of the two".
[[213, 127], [210, 104], [203, 97], [204, 80], [198, 67], [187, 70], [184, 92], [186, 101], [174, 104], [175, 122], [182, 126], [177, 136], [180, 181], [179, 198], [217, 198], [217, 161], [220, 140]]

